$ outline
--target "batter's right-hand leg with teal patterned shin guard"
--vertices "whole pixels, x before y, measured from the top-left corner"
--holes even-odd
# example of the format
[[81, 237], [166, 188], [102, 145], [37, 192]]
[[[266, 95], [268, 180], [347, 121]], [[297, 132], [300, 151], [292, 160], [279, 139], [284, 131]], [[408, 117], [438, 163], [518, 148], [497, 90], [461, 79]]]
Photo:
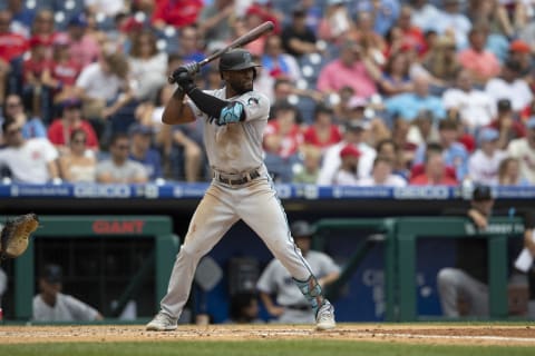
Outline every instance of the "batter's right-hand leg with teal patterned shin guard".
[[249, 187], [237, 205], [239, 216], [264, 241], [273, 256], [294, 278], [317, 316], [318, 328], [334, 327], [333, 307], [290, 234], [286, 215], [270, 182], [260, 180]]

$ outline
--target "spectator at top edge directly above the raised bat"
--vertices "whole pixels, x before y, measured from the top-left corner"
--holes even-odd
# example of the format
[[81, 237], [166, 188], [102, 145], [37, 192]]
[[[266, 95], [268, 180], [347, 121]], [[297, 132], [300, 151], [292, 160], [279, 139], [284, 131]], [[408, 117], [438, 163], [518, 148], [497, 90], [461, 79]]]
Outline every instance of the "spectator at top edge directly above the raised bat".
[[235, 18], [234, 0], [214, 0], [205, 3], [198, 16], [198, 31], [206, 47], [225, 43], [232, 37], [231, 22]]

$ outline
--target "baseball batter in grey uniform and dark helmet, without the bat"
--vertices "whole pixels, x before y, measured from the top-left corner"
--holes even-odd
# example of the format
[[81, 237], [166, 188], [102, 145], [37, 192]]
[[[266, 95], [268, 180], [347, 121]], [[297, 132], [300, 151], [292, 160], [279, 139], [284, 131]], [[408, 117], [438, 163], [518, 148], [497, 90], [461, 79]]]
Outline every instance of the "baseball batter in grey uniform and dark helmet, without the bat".
[[192, 66], [173, 72], [178, 89], [167, 102], [162, 121], [181, 125], [202, 120], [212, 182], [197, 206], [173, 266], [167, 294], [147, 330], [174, 330], [189, 296], [197, 264], [225, 233], [243, 219], [288, 269], [310, 304], [317, 329], [335, 327], [334, 308], [295, 246], [282, 204], [263, 162], [262, 135], [270, 101], [253, 89], [256, 65], [244, 49], [220, 59], [224, 87], [200, 90]]

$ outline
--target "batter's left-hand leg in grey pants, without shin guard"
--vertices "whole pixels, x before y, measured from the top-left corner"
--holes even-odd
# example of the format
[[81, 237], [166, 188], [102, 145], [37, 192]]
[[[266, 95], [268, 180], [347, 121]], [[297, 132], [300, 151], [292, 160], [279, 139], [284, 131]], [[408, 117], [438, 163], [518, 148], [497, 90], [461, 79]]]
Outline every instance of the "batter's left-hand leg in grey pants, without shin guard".
[[[177, 255], [167, 287], [160, 301], [160, 313], [147, 325], [150, 330], [171, 330], [182, 314], [200, 259], [206, 255], [237, 221], [232, 205], [216, 186], [211, 186], [197, 206]], [[160, 327], [162, 324], [171, 324]]]

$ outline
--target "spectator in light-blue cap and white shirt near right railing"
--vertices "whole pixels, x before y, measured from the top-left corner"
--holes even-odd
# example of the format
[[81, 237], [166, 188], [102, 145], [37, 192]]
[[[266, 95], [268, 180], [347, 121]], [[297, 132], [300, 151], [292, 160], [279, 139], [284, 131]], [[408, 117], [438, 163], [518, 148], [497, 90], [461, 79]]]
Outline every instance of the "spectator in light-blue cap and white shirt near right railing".
[[496, 129], [481, 128], [477, 136], [478, 149], [468, 159], [468, 176], [477, 184], [496, 186], [498, 167], [507, 154], [498, 149], [499, 132]]

